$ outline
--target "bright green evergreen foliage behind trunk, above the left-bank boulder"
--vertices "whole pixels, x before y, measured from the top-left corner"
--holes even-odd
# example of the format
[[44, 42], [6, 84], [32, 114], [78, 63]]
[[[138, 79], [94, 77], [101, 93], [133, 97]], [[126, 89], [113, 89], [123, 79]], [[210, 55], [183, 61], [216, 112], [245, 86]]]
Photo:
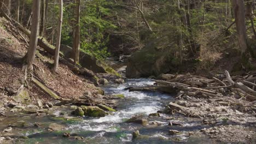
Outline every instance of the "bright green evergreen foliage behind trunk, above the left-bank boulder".
[[[106, 0], [82, 1], [80, 11], [80, 49], [98, 59], [110, 56], [108, 52], [109, 31], [117, 28], [103, 16], [111, 15], [110, 2]], [[74, 3], [66, 5], [63, 13], [62, 44], [73, 45]]]

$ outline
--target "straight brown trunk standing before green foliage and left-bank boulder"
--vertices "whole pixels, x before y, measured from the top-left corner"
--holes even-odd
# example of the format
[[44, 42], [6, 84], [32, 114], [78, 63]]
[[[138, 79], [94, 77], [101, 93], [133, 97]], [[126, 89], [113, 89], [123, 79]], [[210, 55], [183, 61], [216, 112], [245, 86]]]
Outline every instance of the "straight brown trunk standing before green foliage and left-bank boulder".
[[75, 8], [75, 28], [74, 28], [74, 42], [73, 42], [73, 49], [74, 49], [74, 64], [79, 62], [79, 48], [80, 48], [80, 0], [76, 1], [76, 8]]

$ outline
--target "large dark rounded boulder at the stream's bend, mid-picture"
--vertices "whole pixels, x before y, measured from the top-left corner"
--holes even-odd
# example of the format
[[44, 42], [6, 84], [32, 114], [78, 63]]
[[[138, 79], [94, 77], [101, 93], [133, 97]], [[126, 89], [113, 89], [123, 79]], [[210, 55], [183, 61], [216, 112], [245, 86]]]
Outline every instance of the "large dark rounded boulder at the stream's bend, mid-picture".
[[176, 68], [177, 60], [170, 47], [162, 48], [157, 43], [149, 43], [128, 59], [126, 77], [158, 76]]

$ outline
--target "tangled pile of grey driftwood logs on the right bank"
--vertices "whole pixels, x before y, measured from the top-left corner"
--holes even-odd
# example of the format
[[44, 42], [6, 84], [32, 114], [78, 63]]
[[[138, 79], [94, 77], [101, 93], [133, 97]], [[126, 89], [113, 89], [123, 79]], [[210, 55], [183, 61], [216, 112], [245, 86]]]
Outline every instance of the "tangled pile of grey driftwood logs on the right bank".
[[221, 98], [226, 96], [240, 97], [243, 100], [256, 100], [256, 71], [246, 76], [231, 77], [228, 71], [225, 74], [208, 79], [196, 75], [165, 74], [154, 80], [155, 86], [130, 87], [130, 91], [154, 91], [177, 94], [178, 98]]

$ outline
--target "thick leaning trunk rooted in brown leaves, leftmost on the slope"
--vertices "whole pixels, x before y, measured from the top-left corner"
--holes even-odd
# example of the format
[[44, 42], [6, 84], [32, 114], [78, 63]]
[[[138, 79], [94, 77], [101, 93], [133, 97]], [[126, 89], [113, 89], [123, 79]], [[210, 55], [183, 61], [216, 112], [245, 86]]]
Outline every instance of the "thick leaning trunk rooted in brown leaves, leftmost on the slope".
[[39, 19], [40, 19], [40, 0], [33, 1], [32, 8], [32, 26], [31, 26], [31, 36], [30, 36], [30, 45], [27, 52], [27, 69], [32, 70], [32, 64], [34, 57], [36, 56], [37, 50], [37, 38], [38, 38], [38, 29], [39, 29]]

